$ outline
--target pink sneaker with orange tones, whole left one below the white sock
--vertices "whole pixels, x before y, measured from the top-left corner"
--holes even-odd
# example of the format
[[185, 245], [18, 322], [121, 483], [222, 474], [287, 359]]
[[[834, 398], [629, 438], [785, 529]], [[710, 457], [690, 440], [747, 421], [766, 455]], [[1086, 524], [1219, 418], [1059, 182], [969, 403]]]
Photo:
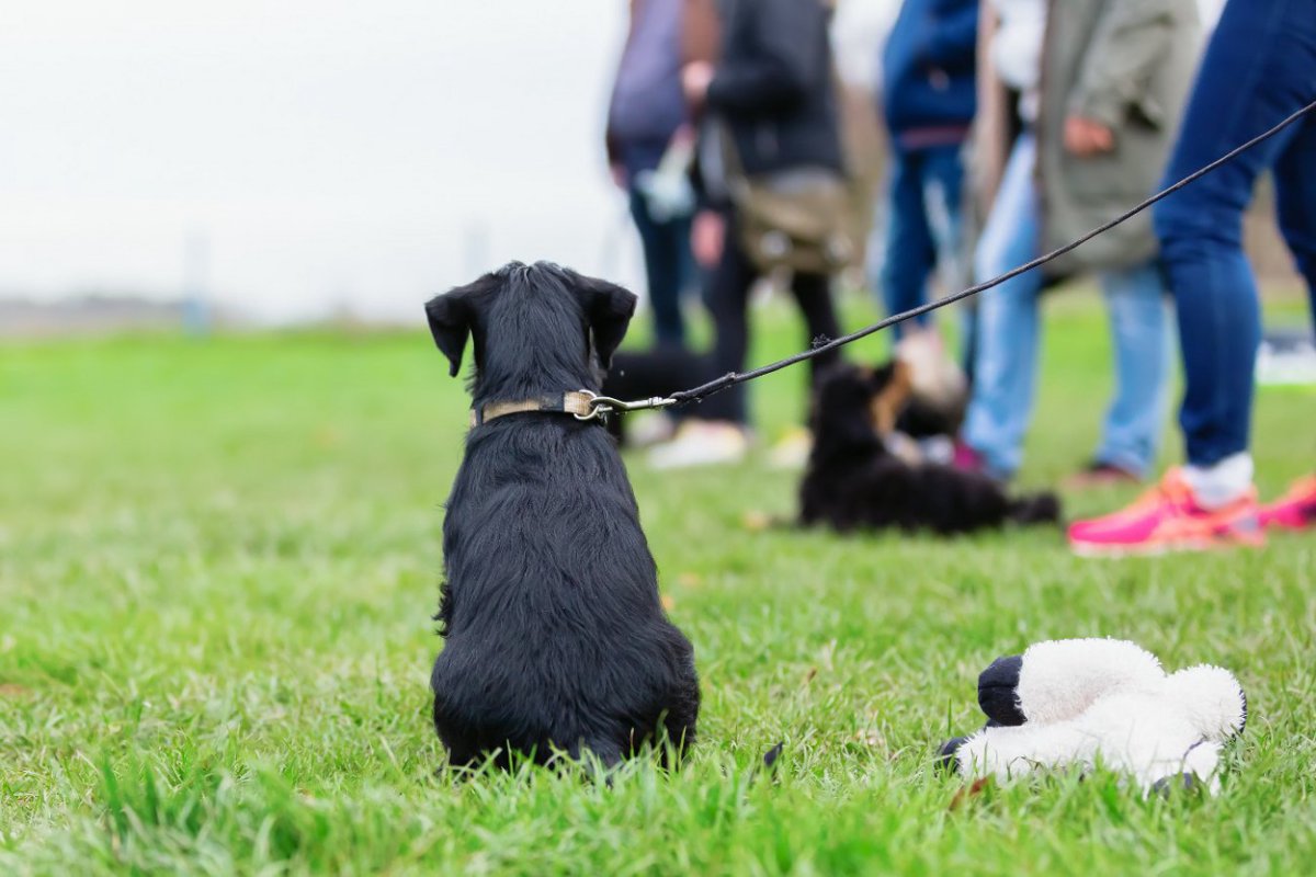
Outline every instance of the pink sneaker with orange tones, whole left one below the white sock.
[[1262, 546], [1257, 492], [1220, 509], [1203, 509], [1179, 469], [1165, 473], [1154, 489], [1103, 518], [1078, 521], [1069, 543], [1080, 556], [1154, 555], [1227, 546]]

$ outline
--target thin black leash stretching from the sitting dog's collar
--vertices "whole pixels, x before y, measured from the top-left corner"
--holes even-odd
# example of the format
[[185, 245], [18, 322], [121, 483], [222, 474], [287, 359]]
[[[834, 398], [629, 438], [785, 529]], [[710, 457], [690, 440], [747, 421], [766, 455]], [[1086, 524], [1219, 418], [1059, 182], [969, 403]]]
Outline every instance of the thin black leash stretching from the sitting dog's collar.
[[700, 384], [699, 387], [695, 387], [695, 388], [691, 388], [691, 389], [683, 389], [679, 393], [672, 393], [669, 397], [646, 398], [646, 400], [641, 400], [641, 401], [637, 401], [637, 402], [621, 402], [619, 400], [611, 400], [611, 398], [607, 398], [607, 397], [599, 397], [596, 400], [596, 402], [595, 402], [595, 410], [599, 414], [607, 414], [607, 413], [615, 412], [615, 410], [632, 412], [632, 410], [640, 410], [640, 409], [645, 409], [645, 408], [666, 408], [669, 405], [684, 405], [687, 402], [695, 402], [695, 401], [699, 401], [701, 398], [707, 398], [708, 396], [712, 396], [713, 393], [717, 393], [717, 392], [721, 392], [724, 389], [728, 389], [729, 387], [734, 387], [736, 384], [744, 384], [745, 381], [751, 381], [751, 380], [754, 380], [757, 377], [763, 377], [765, 375], [771, 375], [772, 372], [780, 371], [780, 369], [783, 369], [783, 368], [786, 368], [788, 366], [795, 366], [796, 363], [803, 363], [803, 362], [805, 362], [808, 359], [813, 359], [815, 356], [821, 356], [822, 354], [833, 351], [837, 347], [844, 347], [845, 344], [849, 344], [851, 342], [859, 341], [861, 338], [867, 338], [869, 335], [871, 335], [874, 333], [878, 333], [878, 331], [882, 331], [883, 329], [888, 329], [888, 327], [896, 325], [898, 322], [904, 322], [905, 320], [909, 320], [912, 317], [919, 317], [921, 314], [932, 313], [933, 310], [937, 310], [938, 308], [945, 308], [946, 305], [951, 305], [951, 304], [954, 304], [957, 301], [962, 301], [963, 298], [969, 298], [970, 296], [976, 296], [980, 292], [986, 292], [987, 289], [991, 289], [992, 287], [999, 287], [1000, 284], [1005, 283], [1007, 280], [1009, 280], [1012, 277], [1017, 277], [1019, 275], [1024, 273], [1025, 271], [1032, 271], [1033, 268], [1036, 268], [1038, 266], [1042, 266], [1042, 264], [1046, 264], [1048, 262], [1050, 262], [1053, 259], [1058, 259], [1059, 256], [1065, 255], [1066, 252], [1069, 252], [1071, 250], [1075, 250], [1075, 249], [1080, 247], [1082, 245], [1087, 243], [1088, 241], [1091, 241], [1096, 235], [1104, 234], [1105, 231], [1109, 231], [1115, 226], [1120, 225], [1121, 222], [1125, 222], [1125, 221], [1130, 220], [1132, 217], [1137, 216], [1142, 210], [1146, 210], [1149, 206], [1152, 206], [1153, 204], [1155, 204], [1161, 199], [1169, 197], [1170, 195], [1173, 195], [1173, 193], [1178, 192], [1179, 189], [1182, 189], [1184, 185], [1188, 185], [1194, 180], [1198, 180], [1198, 179], [1205, 176], [1207, 174], [1209, 174], [1211, 171], [1216, 170], [1221, 164], [1233, 160], [1241, 153], [1248, 151], [1249, 149], [1252, 149], [1257, 143], [1262, 142], [1263, 139], [1266, 139], [1269, 137], [1274, 137], [1275, 134], [1278, 134], [1279, 131], [1282, 131], [1284, 128], [1287, 128], [1288, 125], [1292, 125], [1294, 122], [1296, 122], [1299, 118], [1302, 118], [1307, 113], [1312, 112], [1313, 109], [1316, 109], [1316, 101], [1312, 101], [1312, 103], [1307, 104], [1305, 107], [1303, 107], [1302, 109], [1299, 109], [1292, 116], [1290, 116], [1284, 121], [1279, 122], [1278, 125], [1275, 125], [1270, 130], [1267, 130], [1267, 131], [1265, 131], [1262, 134], [1258, 134], [1257, 137], [1253, 137], [1250, 141], [1248, 141], [1242, 146], [1238, 146], [1238, 147], [1230, 150], [1229, 153], [1225, 153], [1224, 155], [1221, 155], [1220, 158], [1217, 158], [1211, 164], [1207, 164], [1205, 167], [1203, 167], [1200, 170], [1190, 174], [1188, 176], [1183, 178], [1182, 180], [1179, 180], [1174, 185], [1171, 185], [1169, 188], [1165, 188], [1165, 189], [1161, 189], [1159, 192], [1157, 192], [1155, 195], [1153, 195], [1148, 200], [1145, 200], [1141, 204], [1138, 204], [1137, 206], [1134, 206], [1134, 208], [1132, 208], [1132, 209], [1121, 213], [1120, 216], [1115, 217], [1109, 222], [1099, 225], [1098, 227], [1092, 229], [1091, 231], [1088, 231], [1087, 234], [1082, 235], [1080, 238], [1078, 238], [1075, 241], [1071, 241], [1070, 243], [1066, 243], [1062, 247], [1051, 250], [1050, 252], [1048, 252], [1045, 255], [1037, 256], [1032, 262], [1029, 262], [1026, 264], [1021, 264], [1017, 268], [1013, 268], [1012, 271], [1007, 271], [1005, 273], [1003, 273], [1003, 275], [1000, 275], [998, 277], [992, 277], [991, 280], [987, 280], [984, 283], [979, 283], [975, 287], [969, 287], [967, 289], [961, 289], [957, 293], [945, 296], [942, 298], [937, 298], [936, 301], [929, 301], [929, 302], [921, 304], [917, 308], [911, 308], [909, 310], [905, 310], [904, 313], [894, 314], [891, 317], [887, 317], [886, 320], [882, 320], [879, 322], [873, 323], [871, 326], [866, 326], [866, 327], [863, 327], [863, 329], [861, 329], [858, 331], [853, 331], [849, 335], [841, 335], [840, 338], [833, 338], [833, 339], [825, 341], [825, 342], [822, 342], [820, 339], [819, 342], [815, 342], [813, 346], [809, 350], [805, 350], [803, 352], [795, 354], [794, 356], [787, 356], [786, 359], [779, 359], [778, 362], [769, 363], [767, 366], [761, 366], [759, 368], [755, 368], [753, 371], [747, 371], [747, 372], [728, 372], [728, 373], [722, 375], [721, 377], [717, 377], [715, 380], [708, 381], [707, 384]]

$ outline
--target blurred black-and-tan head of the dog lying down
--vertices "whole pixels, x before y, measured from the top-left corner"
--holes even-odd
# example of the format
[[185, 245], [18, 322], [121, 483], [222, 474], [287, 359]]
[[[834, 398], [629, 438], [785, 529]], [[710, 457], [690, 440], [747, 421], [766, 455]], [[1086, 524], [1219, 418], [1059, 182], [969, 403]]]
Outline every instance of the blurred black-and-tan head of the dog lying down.
[[809, 415], [819, 444], [880, 444], [909, 401], [909, 369], [895, 360], [878, 368], [840, 363], [819, 380]]

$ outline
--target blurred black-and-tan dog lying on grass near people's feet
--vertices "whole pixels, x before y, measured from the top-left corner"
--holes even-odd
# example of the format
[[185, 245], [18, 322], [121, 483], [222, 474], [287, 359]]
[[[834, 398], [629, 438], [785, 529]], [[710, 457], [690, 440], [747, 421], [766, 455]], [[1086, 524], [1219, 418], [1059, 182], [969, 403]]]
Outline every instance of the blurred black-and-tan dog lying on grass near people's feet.
[[1011, 500], [984, 475], [907, 463], [887, 450], [909, 397], [904, 363], [870, 369], [840, 364], [819, 383], [813, 451], [800, 484], [800, 522], [840, 531], [898, 527], [970, 533], [1007, 521], [1059, 521], [1054, 494]]

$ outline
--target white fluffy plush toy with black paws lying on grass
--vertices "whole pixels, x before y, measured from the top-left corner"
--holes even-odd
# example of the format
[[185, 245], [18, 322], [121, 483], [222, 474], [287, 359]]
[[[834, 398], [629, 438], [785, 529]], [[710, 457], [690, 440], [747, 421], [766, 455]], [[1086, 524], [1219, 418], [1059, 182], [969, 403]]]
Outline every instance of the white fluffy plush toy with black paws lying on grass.
[[1220, 749], [1248, 721], [1229, 671], [1166, 675], [1154, 655], [1117, 639], [1059, 639], [999, 657], [978, 678], [978, 702], [987, 727], [941, 749], [965, 780], [1101, 764], [1144, 794], [1199, 782], [1215, 794]]

